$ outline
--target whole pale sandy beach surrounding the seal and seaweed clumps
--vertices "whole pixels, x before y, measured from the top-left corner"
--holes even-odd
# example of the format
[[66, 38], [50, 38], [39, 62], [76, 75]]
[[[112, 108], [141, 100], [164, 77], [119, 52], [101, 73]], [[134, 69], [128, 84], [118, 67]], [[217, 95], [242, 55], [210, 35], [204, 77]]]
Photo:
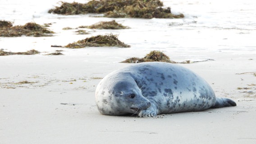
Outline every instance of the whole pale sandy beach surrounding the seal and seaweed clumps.
[[[174, 10], [182, 7], [181, 2], [173, 3]], [[166, 0], [166, 4], [172, 1]], [[194, 17], [196, 11], [188, 14], [193, 5], [204, 6], [200, 4], [184, 2], [179, 11], [185, 14], [183, 19], [117, 18], [131, 28], [86, 29], [89, 35], [62, 28], [114, 18], [45, 14], [33, 20], [53, 23], [49, 29], [56, 32], [54, 36], [0, 37], [0, 49], [5, 51], [41, 52], [0, 56], [0, 144], [255, 144], [256, 23], [208, 27], [210, 22], [203, 20], [207, 12]], [[31, 20], [15, 21], [27, 22]], [[119, 35], [119, 40], [131, 47], [50, 47], [106, 33]], [[64, 55], [45, 55], [55, 50], [63, 50]], [[203, 61], [179, 65], [202, 76], [217, 97], [233, 99], [237, 106], [147, 118], [101, 115], [94, 98], [99, 81], [132, 64], [121, 61], [143, 57], [151, 50], [163, 51], [177, 62]], [[207, 59], [213, 60], [204, 61]]]

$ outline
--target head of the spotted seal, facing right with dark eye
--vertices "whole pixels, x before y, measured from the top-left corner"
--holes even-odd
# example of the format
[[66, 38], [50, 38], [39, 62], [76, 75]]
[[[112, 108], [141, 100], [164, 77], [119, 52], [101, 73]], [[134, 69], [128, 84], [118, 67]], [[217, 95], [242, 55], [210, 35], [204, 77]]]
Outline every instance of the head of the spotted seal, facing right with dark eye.
[[138, 114], [151, 105], [129, 76], [106, 76], [97, 86], [95, 97], [98, 110], [105, 115]]

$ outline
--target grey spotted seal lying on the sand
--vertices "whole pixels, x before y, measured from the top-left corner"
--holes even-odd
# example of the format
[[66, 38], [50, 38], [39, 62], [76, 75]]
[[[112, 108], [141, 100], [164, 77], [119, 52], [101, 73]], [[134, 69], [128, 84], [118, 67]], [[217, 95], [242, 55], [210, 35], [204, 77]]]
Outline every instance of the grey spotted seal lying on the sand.
[[139, 117], [236, 106], [231, 99], [216, 98], [196, 73], [163, 62], [138, 63], [111, 72], [97, 85], [95, 98], [101, 114]]

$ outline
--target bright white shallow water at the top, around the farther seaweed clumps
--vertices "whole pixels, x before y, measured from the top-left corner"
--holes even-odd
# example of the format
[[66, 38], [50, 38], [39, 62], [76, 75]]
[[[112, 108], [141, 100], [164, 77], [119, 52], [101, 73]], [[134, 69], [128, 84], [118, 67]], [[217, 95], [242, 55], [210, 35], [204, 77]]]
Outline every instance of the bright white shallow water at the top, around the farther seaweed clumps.
[[[119, 39], [131, 45], [135, 51], [162, 50], [167, 53], [184, 53], [184, 58], [199, 59], [209, 57], [200, 55], [200, 52], [256, 54], [255, 0], [163, 0], [165, 6], [171, 6], [172, 13], [183, 13], [185, 18], [116, 18], [117, 22], [131, 29], [89, 30], [90, 35], [75, 35], [74, 30], [64, 31], [62, 28], [91, 25], [114, 18], [94, 18], [92, 14], [48, 14], [49, 9], [59, 5], [58, 1], [0, 0], [0, 19], [12, 21], [14, 25], [28, 22], [53, 23], [50, 29], [56, 32], [53, 37], [0, 37], [0, 49], [50, 51], [50, 45], [67, 45], [91, 35], [113, 33], [118, 34]], [[76, 50], [70, 51], [76, 53]], [[190, 52], [198, 53], [189, 55]]]

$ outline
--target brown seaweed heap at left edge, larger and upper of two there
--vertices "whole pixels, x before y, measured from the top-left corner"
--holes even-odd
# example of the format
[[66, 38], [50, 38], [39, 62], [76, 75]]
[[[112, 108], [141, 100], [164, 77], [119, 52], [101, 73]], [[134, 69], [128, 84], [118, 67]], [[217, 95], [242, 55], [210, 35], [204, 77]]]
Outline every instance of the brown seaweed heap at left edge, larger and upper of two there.
[[[4, 24], [5, 21], [0, 21], [0, 25]], [[9, 25], [1, 27], [0, 26], [0, 36], [13, 37], [13, 36], [52, 36], [54, 33], [49, 29], [42, 27], [37, 23], [26, 23], [24, 26], [12, 26]]]

